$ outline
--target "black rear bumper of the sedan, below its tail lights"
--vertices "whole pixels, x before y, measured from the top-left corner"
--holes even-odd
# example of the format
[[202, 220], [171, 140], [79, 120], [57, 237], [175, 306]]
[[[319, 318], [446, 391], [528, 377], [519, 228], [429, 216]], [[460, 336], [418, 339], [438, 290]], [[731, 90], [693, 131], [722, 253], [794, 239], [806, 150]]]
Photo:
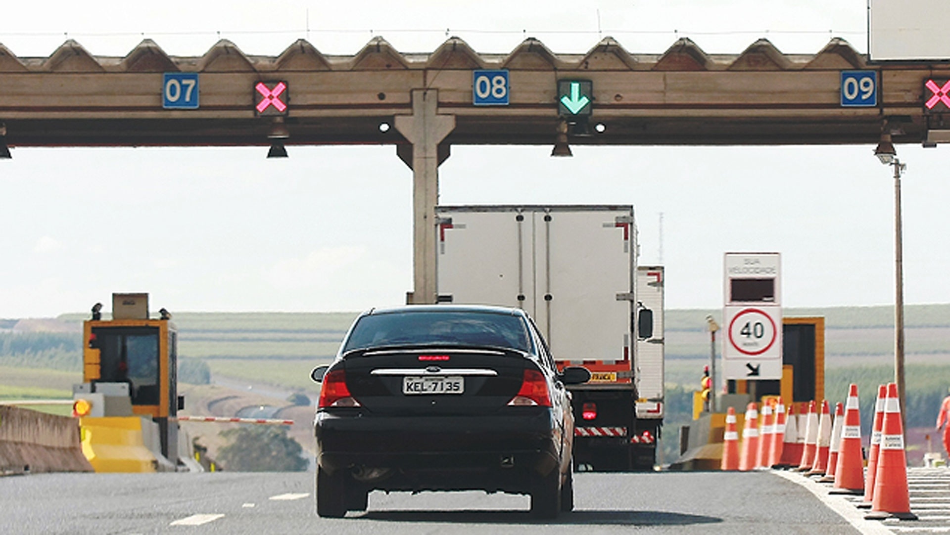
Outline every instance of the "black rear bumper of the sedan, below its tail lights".
[[[356, 416], [317, 413], [317, 463], [324, 470], [391, 469], [378, 489], [517, 491], [525, 475], [561, 458], [560, 431], [546, 410], [517, 416]], [[448, 475], [450, 474], [450, 475]], [[527, 487], [524, 487], [527, 489]]]

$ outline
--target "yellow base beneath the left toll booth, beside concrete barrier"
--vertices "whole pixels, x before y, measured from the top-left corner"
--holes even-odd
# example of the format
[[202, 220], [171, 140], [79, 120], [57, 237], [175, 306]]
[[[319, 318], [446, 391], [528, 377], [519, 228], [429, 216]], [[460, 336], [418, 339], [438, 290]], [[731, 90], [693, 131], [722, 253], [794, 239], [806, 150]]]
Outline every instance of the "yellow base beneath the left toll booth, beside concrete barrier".
[[83, 454], [97, 472], [154, 472], [158, 460], [142, 441], [140, 416], [80, 418]]

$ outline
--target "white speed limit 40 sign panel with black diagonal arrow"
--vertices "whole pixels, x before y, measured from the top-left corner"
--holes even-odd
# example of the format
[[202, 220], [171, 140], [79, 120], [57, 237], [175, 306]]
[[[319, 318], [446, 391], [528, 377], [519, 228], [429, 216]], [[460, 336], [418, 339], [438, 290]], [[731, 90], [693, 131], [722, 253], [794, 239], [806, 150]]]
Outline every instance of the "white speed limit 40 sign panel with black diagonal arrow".
[[782, 378], [782, 308], [727, 306], [725, 320], [726, 378]]

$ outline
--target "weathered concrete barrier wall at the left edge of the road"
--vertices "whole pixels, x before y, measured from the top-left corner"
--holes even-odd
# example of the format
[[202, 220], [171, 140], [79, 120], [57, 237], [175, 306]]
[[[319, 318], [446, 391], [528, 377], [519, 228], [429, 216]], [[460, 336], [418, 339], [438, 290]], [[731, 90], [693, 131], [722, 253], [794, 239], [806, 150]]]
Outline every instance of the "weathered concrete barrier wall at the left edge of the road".
[[0, 405], [0, 475], [92, 471], [74, 418]]

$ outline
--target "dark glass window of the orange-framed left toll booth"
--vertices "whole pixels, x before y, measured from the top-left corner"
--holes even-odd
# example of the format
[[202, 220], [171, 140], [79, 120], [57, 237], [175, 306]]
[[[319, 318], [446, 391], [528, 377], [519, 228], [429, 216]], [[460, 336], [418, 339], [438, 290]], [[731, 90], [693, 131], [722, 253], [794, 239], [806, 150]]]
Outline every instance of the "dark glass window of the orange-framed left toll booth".
[[159, 330], [156, 328], [93, 329], [100, 349], [104, 382], [127, 382], [133, 405], [158, 405]]

